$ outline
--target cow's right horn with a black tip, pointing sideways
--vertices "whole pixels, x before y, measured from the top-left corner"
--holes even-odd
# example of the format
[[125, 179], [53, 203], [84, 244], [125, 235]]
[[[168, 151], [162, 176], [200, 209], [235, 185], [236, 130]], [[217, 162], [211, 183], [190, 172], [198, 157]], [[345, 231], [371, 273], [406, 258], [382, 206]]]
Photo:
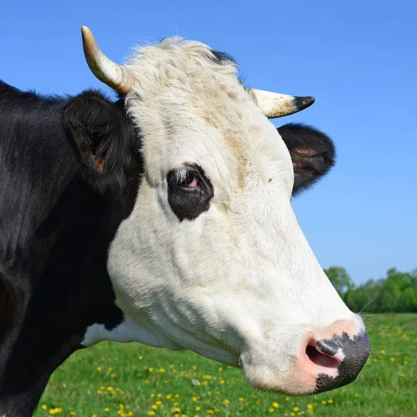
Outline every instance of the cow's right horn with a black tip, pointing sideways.
[[249, 89], [256, 104], [268, 119], [283, 117], [304, 110], [314, 103], [314, 97], [294, 97], [277, 92]]

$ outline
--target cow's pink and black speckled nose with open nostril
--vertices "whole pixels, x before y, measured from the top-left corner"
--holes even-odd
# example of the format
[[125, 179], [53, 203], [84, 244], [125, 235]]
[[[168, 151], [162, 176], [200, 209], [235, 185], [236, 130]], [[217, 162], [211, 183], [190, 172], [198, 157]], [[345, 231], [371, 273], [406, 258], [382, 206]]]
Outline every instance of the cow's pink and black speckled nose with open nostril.
[[357, 378], [370, 352], [368, 334], [347, 320], [306, 337], [297, 360], [300, 379], [320, 393], [350, 384]]

